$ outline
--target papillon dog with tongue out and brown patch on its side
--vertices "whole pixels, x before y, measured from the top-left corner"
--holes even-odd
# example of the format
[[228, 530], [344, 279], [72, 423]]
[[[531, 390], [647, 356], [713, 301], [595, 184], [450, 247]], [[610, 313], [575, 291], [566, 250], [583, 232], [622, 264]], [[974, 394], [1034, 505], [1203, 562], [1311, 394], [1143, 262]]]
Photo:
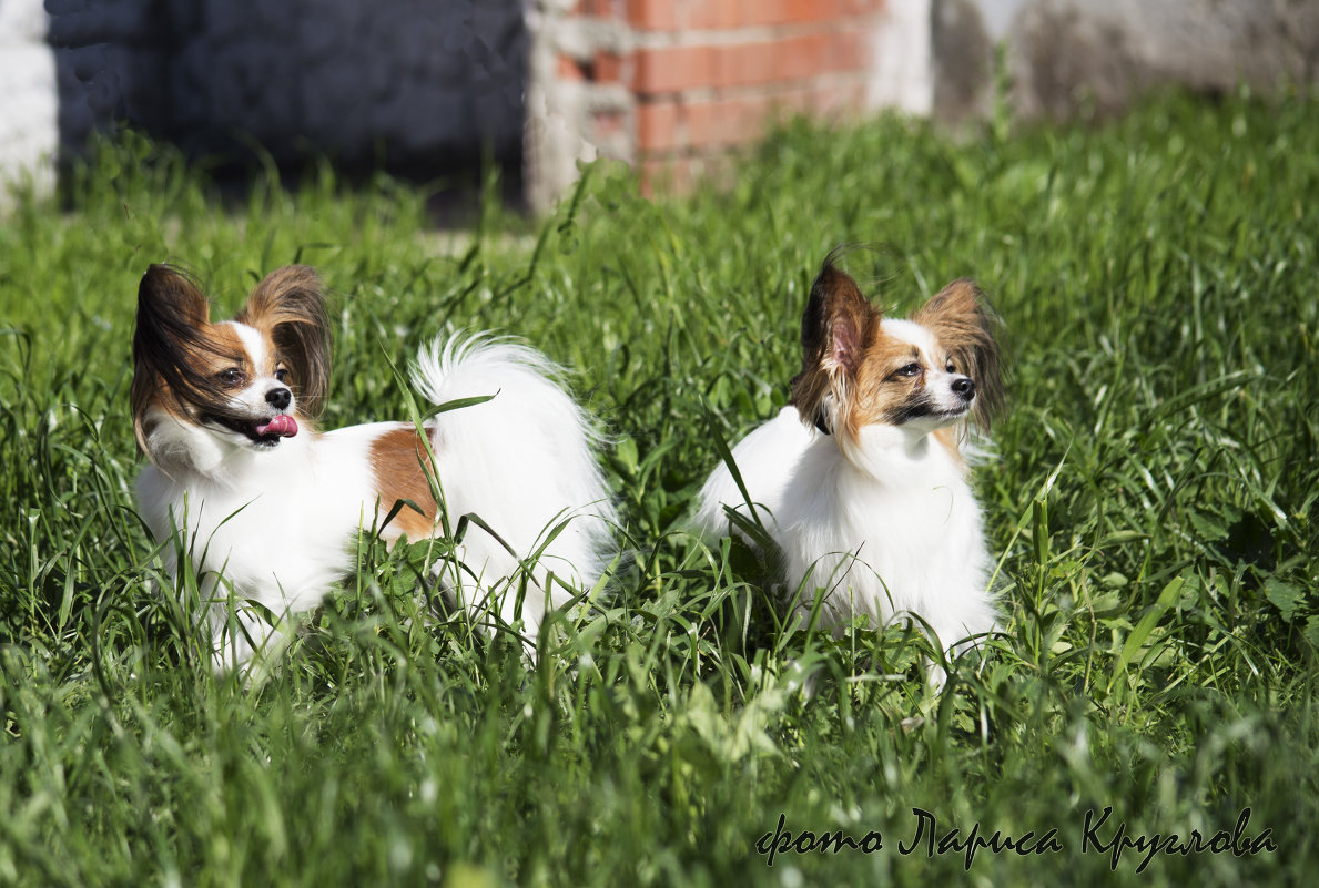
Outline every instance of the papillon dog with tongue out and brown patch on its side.
[[141, 515], [174, 540], [164, 552], [175, 576], [177, 553], [191, 563], [218, 669], [286, 638], [273, 624], [355, 568], [360, 534], [417, 540], [477, 516], [441, 582], [474, 613], [521, 618], [533, 639], [550, 609], [600, 577], [615, 514], [598, 439], [528, 347], [455, 337], [422, 349], [417, 391], [463, 404], [421, 433], [406, 422], [319, 431], [330, 320], [317, 273], [272, 271], [233, 320], [212, 323], [191, 278], [153, 265], [133, 361], [133, 427], [150, 460]]

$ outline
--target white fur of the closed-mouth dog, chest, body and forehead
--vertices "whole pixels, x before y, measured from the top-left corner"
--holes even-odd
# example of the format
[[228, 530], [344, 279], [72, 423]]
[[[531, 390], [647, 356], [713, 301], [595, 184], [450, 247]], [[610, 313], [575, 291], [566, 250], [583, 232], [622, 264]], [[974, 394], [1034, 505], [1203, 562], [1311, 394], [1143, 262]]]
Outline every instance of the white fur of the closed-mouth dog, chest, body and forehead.
[[[882, 323], [888, 335], [929, 345], [929, 331], [910, 321]], [[915, 617], [950, 652], [993, 630], [980, 507], [964, 464], [931, 431], [871, 424], [844, 452], [843, 436], [822, 435], [787, 406], [733, 448], [747, 493], [783, 551], [789, 594], [802, 586], [798, 614], [823, 590], [826, 627], [859, 614], [877, 626]], [[700, 490], [696, 526], [723, 532], [725, 505], [748, 511], [720, 464]], [[933, 681], [942, 682], [940, 671]]]

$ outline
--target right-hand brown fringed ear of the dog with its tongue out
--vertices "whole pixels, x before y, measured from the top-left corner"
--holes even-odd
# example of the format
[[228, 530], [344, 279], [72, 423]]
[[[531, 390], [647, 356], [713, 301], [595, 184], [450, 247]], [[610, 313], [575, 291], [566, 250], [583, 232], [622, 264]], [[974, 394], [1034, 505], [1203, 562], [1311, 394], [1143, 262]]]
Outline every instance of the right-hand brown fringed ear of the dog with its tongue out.
[[270, 332], [293, 377], [298, 411], [319, 414], [330, 391], [330, 316], [321, 275], [306, 265], [276, 269], [233, 320]]

